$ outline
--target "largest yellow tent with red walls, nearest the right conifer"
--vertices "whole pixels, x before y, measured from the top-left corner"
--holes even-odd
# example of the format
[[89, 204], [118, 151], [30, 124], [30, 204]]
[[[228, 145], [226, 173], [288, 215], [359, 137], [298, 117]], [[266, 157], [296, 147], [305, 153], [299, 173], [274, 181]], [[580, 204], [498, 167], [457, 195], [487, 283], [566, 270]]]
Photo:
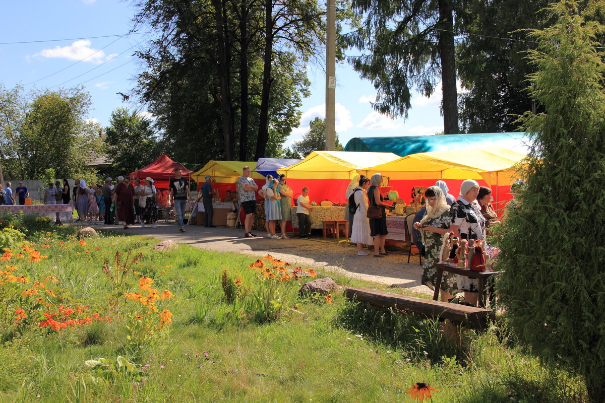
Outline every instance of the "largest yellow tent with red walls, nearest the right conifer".
[[525, 157], [525, 153], [502, 146], [471, 147], [412, 154], [358, 172], [366, 176], [377, 172], [387, 176], [390, 187], [404, 192], [404, 200], [414, 186], [430, 186], [440, 179], [457, 197], [462, 181], [475, 179], [480, 185], [492, 188], [494, 201], [502, 207], [502, 202], [511, 198], [510, 185], [518, 178], [515, 166]]

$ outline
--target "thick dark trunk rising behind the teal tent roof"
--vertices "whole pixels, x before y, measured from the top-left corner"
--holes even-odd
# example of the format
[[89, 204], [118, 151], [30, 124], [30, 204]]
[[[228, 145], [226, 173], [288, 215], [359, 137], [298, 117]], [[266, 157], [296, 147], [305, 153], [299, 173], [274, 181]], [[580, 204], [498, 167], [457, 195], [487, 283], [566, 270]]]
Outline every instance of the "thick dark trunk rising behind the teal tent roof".
[[451, 0], [439, 0], [439, 53], [443, 91], [443, 132], [458, 134], [458, 95], [454, 57], [454, 13]]

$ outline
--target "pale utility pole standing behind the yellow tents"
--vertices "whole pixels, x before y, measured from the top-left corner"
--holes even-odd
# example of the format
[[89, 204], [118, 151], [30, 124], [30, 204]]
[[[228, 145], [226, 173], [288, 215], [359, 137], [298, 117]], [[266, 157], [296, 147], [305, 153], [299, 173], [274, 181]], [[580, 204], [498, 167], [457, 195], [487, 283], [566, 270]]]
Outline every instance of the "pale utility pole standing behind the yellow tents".
[[336, 0], [326, 0], [325, 8], [325, 149], [333, 151], [336, 147]]

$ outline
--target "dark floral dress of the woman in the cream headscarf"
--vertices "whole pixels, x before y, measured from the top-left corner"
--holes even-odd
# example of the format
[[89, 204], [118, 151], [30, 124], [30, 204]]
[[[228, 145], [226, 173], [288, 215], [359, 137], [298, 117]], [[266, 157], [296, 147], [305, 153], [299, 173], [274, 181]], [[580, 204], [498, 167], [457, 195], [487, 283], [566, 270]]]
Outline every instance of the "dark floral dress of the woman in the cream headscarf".
[[[450, 228], [451, 218], [450, 211], [446, 210], [438, 218], [428, 219], [424, 222], [425, 225], [433, 225], [437, 228]], [[425, 256], [424, 263], [422, 263], [422, 284], [430, 289], [435, 289], [435, 280], [437, 277], [437, 269], [435, 264], [439, 263], [442, 256], [443, 237], [445, 235], [425, 232], [424, 233], [424, 247]], [[443, 291], [455, 295], [459, 292], [457, 275], [450, 272], [443, 272], [443, 279], [441, 280], [441, 287]]]

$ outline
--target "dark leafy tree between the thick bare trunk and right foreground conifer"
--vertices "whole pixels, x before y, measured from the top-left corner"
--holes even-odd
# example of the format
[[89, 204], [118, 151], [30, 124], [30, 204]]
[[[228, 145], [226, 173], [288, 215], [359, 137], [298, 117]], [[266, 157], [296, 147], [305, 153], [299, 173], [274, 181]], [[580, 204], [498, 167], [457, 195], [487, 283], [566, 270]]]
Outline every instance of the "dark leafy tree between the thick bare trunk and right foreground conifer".
[[457, 46], [457, 67], [468, 91], [460, 96], [460, 124], [468, 133], [514, 132], [517, 118], [540, 105], [526, 91], [535, 66], [525, 51], [535, 49], [525, 29], [545, 27], [539, 12], [549, 0], [469, 2], [468, 36]]

